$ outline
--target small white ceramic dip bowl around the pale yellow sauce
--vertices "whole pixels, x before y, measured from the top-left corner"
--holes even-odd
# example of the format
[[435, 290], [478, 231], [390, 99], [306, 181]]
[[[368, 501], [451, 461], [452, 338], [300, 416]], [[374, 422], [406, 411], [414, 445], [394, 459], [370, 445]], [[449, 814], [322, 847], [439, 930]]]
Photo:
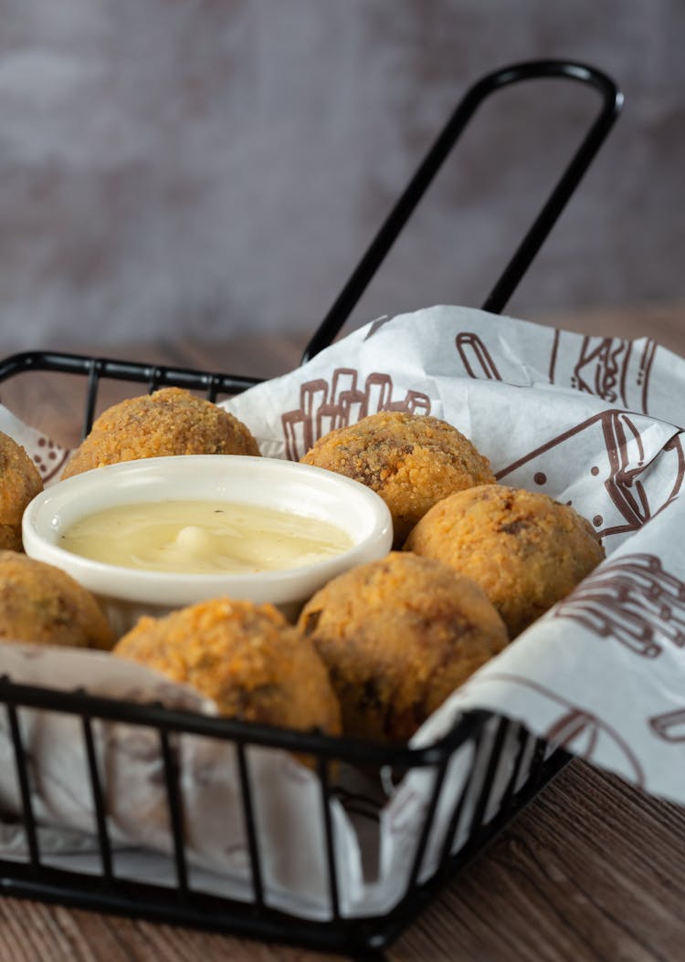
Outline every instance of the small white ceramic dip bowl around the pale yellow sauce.
[[[125, 568], [61, 546], [64, 531], [95, 512], [183, 500], [238, 503], [326, 521], [352, 544], [313, 564], [240, 573]], [[141, 615], [160, 617], [225, 595], [270, 601], [293, 617], [335, 575], [384, 557], [391, 549], [393, 525], [377, 494], [333, 471], [276, 458], [182, 455], [95, 468], [58, 482], [27, 507], [22, 537], [30, 557], [63, 569], [97, 597], [120, 636]]]

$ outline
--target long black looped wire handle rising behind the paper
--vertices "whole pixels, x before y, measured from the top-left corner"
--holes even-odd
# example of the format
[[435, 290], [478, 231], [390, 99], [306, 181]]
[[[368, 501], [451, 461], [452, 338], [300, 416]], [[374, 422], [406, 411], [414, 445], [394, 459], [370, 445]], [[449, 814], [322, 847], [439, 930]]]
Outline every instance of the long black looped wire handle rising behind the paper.
[[302, 364], [333, 342], [360, 297], [366, 291], [378, 267], [385, 260], [397, 236], [413, 214], [419, 200], [432, 183], [452, 147], [469, 123], [470, 117], [483, 101], [496, 90], [509, 87], [520, 81], [549, 77], [565, 78], [593, 87], [601, 95], [602, 107], [593, 125], [571, 158], [570, 164], [549, 194], [540, 214], [533, 221], [516, 253], [502, 271], [495, 287], [483, 304], [483, 310], [485, 311], [494, 314], [499, 314], [502, 311], [520, 283], [523, 274], [545, 242], [549, 231], [566, 207], [573, 190], [592, 163], [614, 121], [621, 113], [622, 92], [610, 77], [595, 67], [583, 63], [553, 60], [516, 63], [487, 74], [467, 91], [444, 126], [442, 133], [419, 165], [407, 188], [395, 203], [385, 223], [371, 241], [367, 252], [358, 266], [355, 267], [328, 314], [319, 324], [317, 331], [304, 350]]

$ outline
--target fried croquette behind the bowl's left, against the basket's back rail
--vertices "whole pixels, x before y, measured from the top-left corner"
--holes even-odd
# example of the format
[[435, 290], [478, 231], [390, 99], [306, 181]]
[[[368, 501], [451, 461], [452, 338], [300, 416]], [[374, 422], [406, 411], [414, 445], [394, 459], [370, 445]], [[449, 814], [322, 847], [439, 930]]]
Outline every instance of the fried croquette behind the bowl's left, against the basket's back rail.
[[163, 388], [114, 404], [97, 418], [63, 477], [139, 458], [259, 453], [248, 428], [230, 412], [182, 388]]

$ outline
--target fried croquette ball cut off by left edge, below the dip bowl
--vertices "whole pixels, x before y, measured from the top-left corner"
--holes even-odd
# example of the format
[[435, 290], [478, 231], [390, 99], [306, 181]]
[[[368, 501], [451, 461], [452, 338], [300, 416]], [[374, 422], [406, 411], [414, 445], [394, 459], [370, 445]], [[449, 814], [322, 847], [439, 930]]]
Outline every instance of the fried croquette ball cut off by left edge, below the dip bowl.
[[65, 571], [0, 551], [0, 639], [109, 649], [114, 632], [95, 598]]

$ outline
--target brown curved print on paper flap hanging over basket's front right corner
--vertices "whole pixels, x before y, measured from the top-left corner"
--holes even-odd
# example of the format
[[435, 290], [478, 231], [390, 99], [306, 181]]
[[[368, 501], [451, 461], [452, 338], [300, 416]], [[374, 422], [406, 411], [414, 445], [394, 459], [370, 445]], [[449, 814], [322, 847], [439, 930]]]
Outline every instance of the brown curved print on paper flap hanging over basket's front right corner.
[[645, 787], [642, 765], [613, 725], [523, 675], [501, 671], [489, 674], [488, 680], [502, 682], [510, 688], [520, 687], [525, 690], [532, 704], [537, 702], [539, 706], [544, 705], [547, 711], [555, 713], [555, 717], [541, 732], [541, 737], [549, 745], [566, 748], [591, 764], [599, 760], [603, 747], [611, 745], [612, 754], [618, 753], [622, 757], [626, 774], [629, 773], [639, 788]]

